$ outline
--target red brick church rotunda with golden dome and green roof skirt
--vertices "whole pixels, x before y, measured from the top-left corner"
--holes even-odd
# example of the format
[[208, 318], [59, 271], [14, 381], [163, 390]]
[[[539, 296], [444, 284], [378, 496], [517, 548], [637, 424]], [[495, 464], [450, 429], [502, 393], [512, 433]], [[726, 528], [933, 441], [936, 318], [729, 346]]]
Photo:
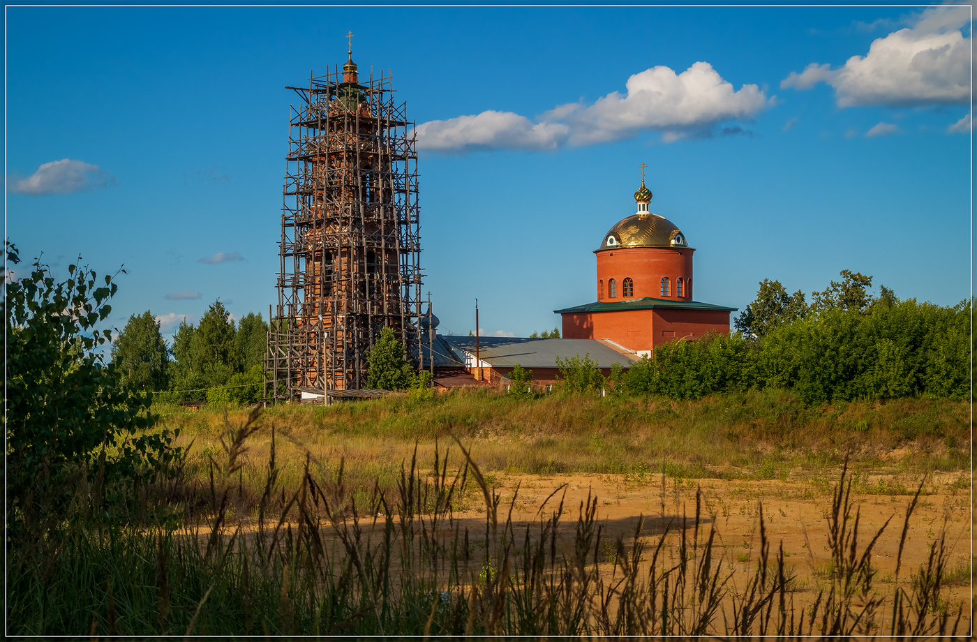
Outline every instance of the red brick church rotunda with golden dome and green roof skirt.
[[[642, 166], [644, 170], [644, 166]], [[649, 210], [651, 191], [634, 193], [638, 211], [604, 235], [597, 255], [597, 301], [555, 310], [565, 339], [609, 339], [639, 355], [708, 331], [728, 334], [736, 308], [693, 297], [692, 254], [678, 226]]]

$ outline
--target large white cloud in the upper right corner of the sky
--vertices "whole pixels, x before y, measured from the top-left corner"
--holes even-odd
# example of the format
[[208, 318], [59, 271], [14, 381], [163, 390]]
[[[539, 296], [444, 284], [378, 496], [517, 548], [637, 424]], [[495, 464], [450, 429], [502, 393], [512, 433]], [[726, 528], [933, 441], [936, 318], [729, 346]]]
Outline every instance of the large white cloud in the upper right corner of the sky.
[[842, 66], [808, 64], [791, 71], [782, 88], [810, 89], [819, 82], [835, 91], [838, 107], [919, 107], [970, 101], [970, 38], [960, 28], [966, 7], [934, 7], [912, 27], [871, 43], [865, 56]]

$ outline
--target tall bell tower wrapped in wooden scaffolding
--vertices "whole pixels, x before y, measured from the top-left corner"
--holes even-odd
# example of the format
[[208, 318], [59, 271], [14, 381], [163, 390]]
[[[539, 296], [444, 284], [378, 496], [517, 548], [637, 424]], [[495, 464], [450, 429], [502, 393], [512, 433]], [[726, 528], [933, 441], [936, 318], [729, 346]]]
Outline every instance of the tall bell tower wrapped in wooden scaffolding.
[[424, 367], [414, 123], [389, 74], [361, 83], [350, 60], [291, 107], [282, 188], [277, 307], [266, 399], [366, 388], [384, 326]]

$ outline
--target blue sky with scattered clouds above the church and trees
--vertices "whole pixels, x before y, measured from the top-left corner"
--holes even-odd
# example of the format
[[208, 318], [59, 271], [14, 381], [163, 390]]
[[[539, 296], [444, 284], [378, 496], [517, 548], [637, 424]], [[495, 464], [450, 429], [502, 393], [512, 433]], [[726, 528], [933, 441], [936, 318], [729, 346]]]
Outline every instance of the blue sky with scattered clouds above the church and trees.
[[[441, 330], [528, 335], [593, 301], [646, 163], [697, 300], [841, 270], [970, 294], [971, 7], [19, 7], [6, 235], [64, 275], [124, 265], [111, 325], [275, 302], [287, 123], [346, 58], [418, 123]], [[877, 288], [876, 288], [877, 289]]]

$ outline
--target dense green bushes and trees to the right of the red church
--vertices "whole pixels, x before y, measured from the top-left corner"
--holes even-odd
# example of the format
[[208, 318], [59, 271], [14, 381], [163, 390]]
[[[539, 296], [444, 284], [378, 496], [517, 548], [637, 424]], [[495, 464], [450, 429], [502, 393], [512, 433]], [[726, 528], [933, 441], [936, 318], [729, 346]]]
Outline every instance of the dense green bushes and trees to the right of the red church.
[[[779, 283], [764, 281], [757, 301], [767, 303], [751, 309], [780, 310], [780, 317], [741, 317], [755, 340], [713, 335], [658, 346], [651, 359], [632, 365], [619, 388], [698, 399], [773, 387], [795, 392], [809, 406], [921, 395], [966, 399], [970, 305], [900, 301], [888, 288], [871, 299], [870, 278], [841, 274], [843, 283], [817, 293], [820, 312], [803, 317], [793, 314], [803, 294], [788, 297]], [[786, 307], [767, 305], [778, 300]]]

